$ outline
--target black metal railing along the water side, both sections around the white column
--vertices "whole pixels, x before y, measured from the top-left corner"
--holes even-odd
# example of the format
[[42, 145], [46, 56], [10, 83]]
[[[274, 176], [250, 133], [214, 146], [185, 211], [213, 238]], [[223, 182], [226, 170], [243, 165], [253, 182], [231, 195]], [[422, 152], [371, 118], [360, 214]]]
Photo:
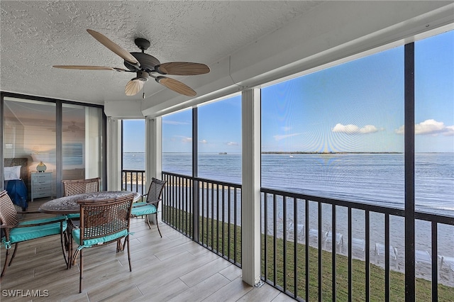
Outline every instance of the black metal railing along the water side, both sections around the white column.
[[[162, 220], [241, 267], [241, 185], [169, 172], [162, 179]], [[411, 295], [404, 209], [261, 192], [263, 281], [298, 301], [403, 301]], [[423, 229], [416, 241], [428, 242], [415, 249], [416, 270], [425, 267], [416, 274], [416, 299], [454, 301], [454, 263], [446, 262], [454, 251], [438, 245], [454, 233], [454, 218], [421, 212], [415, 218], [416, 233]]]

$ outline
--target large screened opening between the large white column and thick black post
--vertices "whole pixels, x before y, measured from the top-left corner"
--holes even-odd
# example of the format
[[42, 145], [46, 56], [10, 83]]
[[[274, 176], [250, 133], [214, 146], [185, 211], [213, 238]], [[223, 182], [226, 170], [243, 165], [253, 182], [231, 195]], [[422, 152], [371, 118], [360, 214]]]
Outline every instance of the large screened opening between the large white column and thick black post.
[[[342, 201], [354, 201], [404, 208], [404, 135], [398, 133], [404, 124], [404, 47], [267, 86], [261, 92], [262, 187], [334, 198], [341, 204]], [[292, 198], [288, 199], [292, 201]], [[319, 200], [320, 204], [311, 202], [310, 217], [304, 216], [304, 208], [297, 208], [294, 213], [292, 203], [284, 208], [279, 201], [276, 212], [278, 217], [297, 220], [301, 228], [308, 219], [309, 238], [304, 243], [309, 242], [315, 249], [319, 248], [314, 244], [318, 241], [323, 250], [333, 252], [336, 249], [338, 254], [345, 255], [348, 251], [343, 250], [342, 245], [347, 247], [349, 241], [355, 241], [361, 250], [366, 239], [365, 216], [358, 210], [353, 211], [353, 222], [349, 226], [347, 208], [333, 207], [328, 202], [323, 203], [323, 199]], [[389, 243], [393, 250], [404, 251], [404, 240], [399, 236], [402, 232], [394, 233], [402, 220], [395, 218], [392, 216], [389, 223], [392, 230]], [[364, 256], [358, 255], [358, 251], [352, 252], [354, 258], [365, 259], [367, 252], [372, 256], [375, 270], [371, 272], [371, 282], [378, 284], [372, 287], [372, 300], [382, 300], [384, 294], [384, 261], [378, 257], [374, 260], [373, 255], [375, 247], [384, 245], [386, 221], [384, 214], [372, 212], [370, 225], [367, 225], [370, 251], [364, 251]], [[334, 228], [336, 242], [333, 240]], [[276, 236], [282, 237], [279, 229]], [[311, 238], [316, 239], [312, 240], [314, 243]], [[325, 252], [323, 254], [327, 256]], [[311, 265], [318, 262], [314, 255], [316, 253], [311, 250]], [[301, 253], [299, 257], [304, 256]], [[345, 260], [345, 257], [336, 257], [336, 276], [341, 287], [347, 278]], [[286, 261], [292, 266], [288, 258]], [[324, 276], [331, 275], [332, 258], [326, 257], [322, 262], [321, 274], [331, 285], [331, 277]], [[356, 263], [353, 276], [358, 279], [359, 275], [364, 275], [364, 264], [353, 263]], [[402, 263], [404, 257], [391, 262], [390, 269], [399, 271]], [[279, 262], [277, 267], [283, 265]], [[301, 280], [304, 270], [299, 274]], [[393, 273], [392, 282], [395, 276], [403, 277]], [[314, 286], [316, 282], [310, 281], [309, 296], [312, 298], [317, 295]], [[299, 294], [304, 296], [304, 291], [301, 284]], [[341, 294], [337, 296], [342, 300]], [[355, 291], [358, 299], [364, 299], [362, 295]], [[331, 296], [329, 286], [328, 290], [323, 289], [323, 296]]]

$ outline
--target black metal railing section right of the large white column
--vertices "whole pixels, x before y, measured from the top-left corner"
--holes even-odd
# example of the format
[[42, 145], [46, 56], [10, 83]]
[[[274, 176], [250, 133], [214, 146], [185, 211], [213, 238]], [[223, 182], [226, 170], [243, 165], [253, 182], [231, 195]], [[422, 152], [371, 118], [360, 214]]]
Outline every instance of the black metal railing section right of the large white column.
[[[405, 300], [403, 209], [261, 192], [262, 234], [267, 234], [262, 237], [263, 281], [301, 301]], [[438, 230], [453, 244], [454, 218], [419, 212], [415, 217], [417, 226], [428, 229], [422, 238], [428, 250], [416, 249], [416, 272], [422, 271], [416, 277], [423, 280], [416, 298], [451, 301], [454, 267], [441, 262], [454, 250], [439, 249]]]

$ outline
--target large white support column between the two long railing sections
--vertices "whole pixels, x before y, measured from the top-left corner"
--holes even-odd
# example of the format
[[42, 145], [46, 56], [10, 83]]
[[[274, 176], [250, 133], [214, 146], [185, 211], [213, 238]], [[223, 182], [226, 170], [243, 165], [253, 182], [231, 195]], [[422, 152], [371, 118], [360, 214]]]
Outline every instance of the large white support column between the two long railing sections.
[[243, 91], [241, 101], [243, 189], [241, 253], [243, 281], [260, 284], [260, 89]]

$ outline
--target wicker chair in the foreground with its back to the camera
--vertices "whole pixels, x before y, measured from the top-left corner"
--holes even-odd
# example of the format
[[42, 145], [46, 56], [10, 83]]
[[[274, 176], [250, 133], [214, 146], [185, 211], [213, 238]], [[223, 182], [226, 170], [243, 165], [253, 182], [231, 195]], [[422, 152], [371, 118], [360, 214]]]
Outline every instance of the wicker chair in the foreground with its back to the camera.
[[135, 194], [104, 200], [77, 201], [80, 205], [80, 227], [72, 230], [72, 238], [76, 242], [76, 252], [73, 262], [80, 255], [79, 293], [82, 293], [82, 278], [84, 275], [83, 251], [90, 247], [101, 247], [116, 242], [116, 252], [121, 252], [121, 239], [128, 246], [129, 271], [131, 270], [131, 253], [129, 250], [129, 225], [131, 222], [131, 206]]

